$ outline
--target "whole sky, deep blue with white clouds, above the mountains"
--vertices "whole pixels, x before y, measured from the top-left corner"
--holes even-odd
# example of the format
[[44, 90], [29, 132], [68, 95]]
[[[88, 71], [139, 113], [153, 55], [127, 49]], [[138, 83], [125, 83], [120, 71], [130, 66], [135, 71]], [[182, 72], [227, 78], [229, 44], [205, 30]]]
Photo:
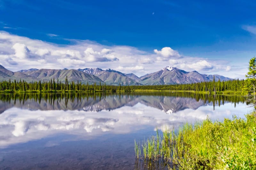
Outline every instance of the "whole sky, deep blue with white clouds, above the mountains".
[[[81, 56], [66, 54], [62, 55], [61, 59], [56, 58], [56, 61], [72, 60], [74, 64], [69, 68], [111, 67], [139, 75], [173, 65], [178, 68], [181, 66], [181, 69], [187, 71], [198, 70], [201, 73], [222, 73], [233, 78], [243, 78], [248, 61], [256, 51], [255, 9], [256, 3], [250, 0], [0, 0], [0, 39], [2, 37], [3, 40], [5, 37], [6, 40], [6, 35], [8, 39], [12, 39], [9, 43], [10, 50], [5, 48], [0, 51], [0, 54], [4, 55], [0, 57], [5, 61], [0, 61], [0, 64], [12, 70], [29, 66], [50, 67], [47, 55], [60, 57], [52, 52], [53, 50], [75, 50]], [[44, 56], [40, 53], [41, 55], [37, 54], [36, 57], [38, 49], [33, 49], [36, 47], [31, 45], [35, 40], [43, 41], [45, 44], [40, 46], [41, 51], [49, 48], [49, 53]], [[85, 43], [80, 40], [87, 41]], [[15, 43], [19, 44], [13, 48]], [[3, 46], [8, 47], [8, 44], [5, 43]], [[125, 50], [121, 47], [125, 47], [128, 52], [124, 53]], [[173, 55], [170, 50], [169, 56], [154, 52], [154, 49], [160, 51], [164, 47], [171, 48], [179, 55]], [[30, 54], [26, 52], [26, 56], [18, 57], [16, 60], [15, 57], [19, 56], [17, 49], [20, 48], [23, 52], [28, 50]], [[87, 48], [90, 49], [86, 53], [84, 51]], [[103, 48], [114, 50], [115, 53], [112, 55], [115, 56], [111, 58], [105, 56], [105, 53], [103, 56]], [[116, 48], [121, 51], [118, 55]], [[94, 59], [88, 59], [84, 54], [93, 55]], [[118, 57], [119, 55], [125, 55], [127, 59], [137, 57], [138, 61], [125, 65], [125, 62], [122, 62], [125, 58]], [[164, 59], [157, 60], [157, 57]], [[26, 65], [26, 58], [45, 62], [32, 62], [32, 65]], [[22, 64], [19, 59], [23, 59], [24, 63]], [[80, 60], [85, 63], [79, 65]], [[141, 62], [142, 60], [148, 62]], [[184, 61], [187, 63], [182, 66]], [[189, 62], [194, 67], [188, 66]], [[207, 66], [207, 63], [210, 65]], [[59, 64], [67, 66], [63, 62]], [[200, 67], [196, 68], [198, 64]], [[230, 69], [225, 66], [229, 66]]]

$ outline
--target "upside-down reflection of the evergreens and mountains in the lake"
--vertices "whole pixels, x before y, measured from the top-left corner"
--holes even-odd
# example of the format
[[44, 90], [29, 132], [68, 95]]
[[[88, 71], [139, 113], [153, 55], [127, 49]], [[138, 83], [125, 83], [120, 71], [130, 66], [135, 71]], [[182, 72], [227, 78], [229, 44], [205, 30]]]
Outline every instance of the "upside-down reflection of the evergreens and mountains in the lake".
[[205, 104], [244, 103], [243, 96], [208, 95], [184, 92], [159, 93], [1, 93], [0, 113], [11, 107], [28, 110], [84, 110], [99, 112], [141, 103], [167, 114]]

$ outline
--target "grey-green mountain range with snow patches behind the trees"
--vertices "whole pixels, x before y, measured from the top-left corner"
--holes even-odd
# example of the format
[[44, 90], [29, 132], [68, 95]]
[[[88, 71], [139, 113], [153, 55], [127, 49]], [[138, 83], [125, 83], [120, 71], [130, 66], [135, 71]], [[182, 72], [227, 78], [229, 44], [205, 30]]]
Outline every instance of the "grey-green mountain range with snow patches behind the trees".
[[81, 81], [82, 83], [106, 83], [107, 85], [171, 85], [188, 84], [202, 81], [212, 81], [213, 77], [218, 81], [227, 81], [227, 78], [220, 75], [200, 74], [197, 71], [187, 72], [175, 67], [167, 66], [162, 70], [138, 77], [133, 73], [124, 74], [116, 70], [102, 70], [100, 68], [85, 69], [28, 69], [12, 72], [0, 65], [0, 80], [26, 80], [31, 81], [49, 81], [59, 79], [64, 82], [66, 76], [69, 81]]

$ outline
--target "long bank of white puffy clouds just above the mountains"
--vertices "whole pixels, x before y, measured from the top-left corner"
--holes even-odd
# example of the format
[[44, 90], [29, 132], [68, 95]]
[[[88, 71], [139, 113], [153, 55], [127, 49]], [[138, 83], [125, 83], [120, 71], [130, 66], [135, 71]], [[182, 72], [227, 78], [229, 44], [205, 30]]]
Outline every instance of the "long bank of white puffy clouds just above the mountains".
[[183, 56], [171, 47], [148, 52], [131, 46], [106, 46], [89, 40], [67, 41], [72, 41], [73, 45], [60, 46], [0, 31], [0, 64], [13, 71], [29, 68], [99, 67], [132, 72], [138, 76], [161, 70], [168, 65], [201, 73], [231, 70], [228, 61]]

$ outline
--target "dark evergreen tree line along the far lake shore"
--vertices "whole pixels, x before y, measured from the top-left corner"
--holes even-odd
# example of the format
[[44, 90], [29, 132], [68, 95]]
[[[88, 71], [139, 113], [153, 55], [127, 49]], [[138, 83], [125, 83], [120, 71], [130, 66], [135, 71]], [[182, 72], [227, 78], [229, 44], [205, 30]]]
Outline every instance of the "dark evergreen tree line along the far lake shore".
[[131, 85], [131, 86], [115, 86], [104, 84], [82, 84], [81, 82], [68, 81], [66, 77], [65, 83], [57, 81], [53, 78], [50, 81], [35, 81], [28, 83], [24, 80], [20, 81], [1, 81], [0, 91], [2, 92], [116, 92], [116, 91], [135, 91], [135, 90], [169, 90], [169, 91], [196, 91], [196, 92], [224, 92], [224, 91], [242, 91], [245, 81], [233, 79], [228, 81], [200, 82], [192, 84], [176, 84], [176, 85]]

